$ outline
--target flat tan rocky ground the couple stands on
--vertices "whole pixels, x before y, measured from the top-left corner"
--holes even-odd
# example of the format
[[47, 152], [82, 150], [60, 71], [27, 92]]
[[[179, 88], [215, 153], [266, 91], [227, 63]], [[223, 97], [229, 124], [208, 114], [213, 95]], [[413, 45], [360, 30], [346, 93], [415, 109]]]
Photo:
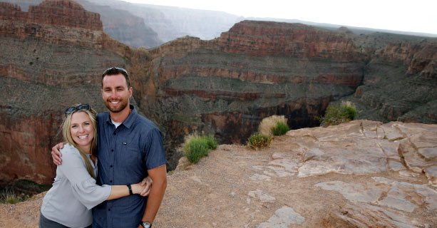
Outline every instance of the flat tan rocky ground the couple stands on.
[[[437, 125], [367, 120], [220, 145], [169, 173], [154, 227], [437, 227], [436, 150]], [[42, 196], [0, 227], [37, 227]]]

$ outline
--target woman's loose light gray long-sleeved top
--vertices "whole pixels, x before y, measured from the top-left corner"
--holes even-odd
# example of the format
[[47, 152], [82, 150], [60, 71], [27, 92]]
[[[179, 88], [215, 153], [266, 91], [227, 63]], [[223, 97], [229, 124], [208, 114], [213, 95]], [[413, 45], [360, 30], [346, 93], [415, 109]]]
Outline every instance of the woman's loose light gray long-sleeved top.
[[[96, 185], [75, 147], [67, 144], [61, 153], [62, 165], [56, 168], [56, 177], [43, 198], [41, 213], [67, 227], [87, 227], [93, 223], [91, 208], [109, 197], [111, 187]], [[96, 166], [93, 162], [91, 165], [97, 175]]]

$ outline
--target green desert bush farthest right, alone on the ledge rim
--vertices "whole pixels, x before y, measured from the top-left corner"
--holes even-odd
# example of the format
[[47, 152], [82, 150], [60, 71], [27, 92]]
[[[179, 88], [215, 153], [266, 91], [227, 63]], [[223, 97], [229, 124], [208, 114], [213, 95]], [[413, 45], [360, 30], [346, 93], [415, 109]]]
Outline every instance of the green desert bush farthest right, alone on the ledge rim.
[[342, 102], [340, 105], [329, 105], [324, 117], [319, 118], [321, 125], [339, 125], [355, 120], [358, 113], [352, 103]]

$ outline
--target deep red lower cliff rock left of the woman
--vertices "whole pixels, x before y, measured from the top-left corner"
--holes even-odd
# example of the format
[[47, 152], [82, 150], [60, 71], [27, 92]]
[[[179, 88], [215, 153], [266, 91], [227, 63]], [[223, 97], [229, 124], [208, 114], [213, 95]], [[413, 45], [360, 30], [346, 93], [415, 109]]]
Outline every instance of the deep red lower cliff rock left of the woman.
[[[53, 111], [46, 112], [46, 116], [6, 116], [5, 110], [14, 108], [1, 107], [0, 114], [0, 180], [12, 182], [17, 179], [33, 180], [38, 183], [51, 183], [56, 165], [51, 161], [48, 150], [57, 128], [59, 120]], [[61, 141], [60, 138], [57, 138]]]

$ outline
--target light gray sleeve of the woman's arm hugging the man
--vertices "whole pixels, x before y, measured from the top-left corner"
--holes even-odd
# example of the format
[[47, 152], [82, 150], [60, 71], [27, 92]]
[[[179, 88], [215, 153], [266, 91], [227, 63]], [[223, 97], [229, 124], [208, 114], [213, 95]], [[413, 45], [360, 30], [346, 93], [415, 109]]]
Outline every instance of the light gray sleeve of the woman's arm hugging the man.
[[86, 208], [96, 207], [108, 199], [110, 185], [96, 185], [96, 180], [86, 170], [85, 162], [78, 151], [63, 152], [62, 165], [58, 168], [71, 182], [74, 197]]

